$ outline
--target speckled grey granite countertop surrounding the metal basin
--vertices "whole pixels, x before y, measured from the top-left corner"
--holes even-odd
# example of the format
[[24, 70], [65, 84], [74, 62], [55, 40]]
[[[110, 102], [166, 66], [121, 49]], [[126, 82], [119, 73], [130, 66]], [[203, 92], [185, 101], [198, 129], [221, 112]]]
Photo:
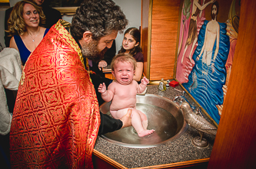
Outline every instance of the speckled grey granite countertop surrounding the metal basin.
[[[175, 88], [183, 91], [181, 86], [176, 86]], [[146, 93], [173, 99], [175, 96], [181, 95], [181, 92], [178, 92], [175, 88], [170, 86], [165, 91], [159, 91], [157, 85], [148, 85]], [[187, 93], [185, 93], [185, 98], [188, 99], [188, 102], [193, 102]], [[204, 117], [208, 119], [206, 115], [204, 115]], [[210, 120], [208, 119], [208, 121]], [[111, 158], [128, 168], [147, 167], [210, 158], [212, 146], [214, 144], [214, 136], [204, 134], [203, 137], [209, 141], [208, 147], [196, 148], [192, 145], [191, 140], [198, 135], [197, 130], [188, 126], [187, 131], [185, 134], [181, 135], [181, 137], [168, 142], [166, 145], [159, 145], [154, 148], [122, 147], [108, 142], [104, 138], [101, 138], [101, 136], [98, 136], [95, 144], [95, 150], [105, 154], [108, 158]]]

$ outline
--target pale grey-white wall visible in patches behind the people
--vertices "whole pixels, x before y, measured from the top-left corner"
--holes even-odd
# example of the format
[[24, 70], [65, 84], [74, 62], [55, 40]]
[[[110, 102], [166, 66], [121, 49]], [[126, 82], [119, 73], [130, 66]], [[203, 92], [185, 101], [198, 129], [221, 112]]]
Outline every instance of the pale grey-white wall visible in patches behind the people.
[[[12, 0], [11, 0], [12, 1]], [[19, 0], [14, 0], [19, 1]], [[129, 21], [128, 27], [139, 28], [141, 26], [141, 1], [140, 0], [113, 0], [117, 5], [121, 7], [121, 10], [125, 13], [126, 18]], [[62, 17], [65, 21], [71, 22], [71, 15], [64, 15]], [[126, 29], [127, 29], [126, 28]], [[126, 30], [125, 29], [125, 30]], [[0, 43], [5, 47], [5, 9], [0, 9]], [[123, 34], [118, 34], [115, 40], [116, 51], [120, 50], [121, 41], [123, 39]]]

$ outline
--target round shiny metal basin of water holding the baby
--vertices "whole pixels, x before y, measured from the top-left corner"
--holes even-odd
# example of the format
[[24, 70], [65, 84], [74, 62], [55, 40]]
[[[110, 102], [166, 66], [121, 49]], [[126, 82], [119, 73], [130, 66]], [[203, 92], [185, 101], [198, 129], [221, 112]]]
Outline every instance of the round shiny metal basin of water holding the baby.
[[[102, 104], [101, 112], [110, 115], [109, 106], [110, 102]], [[101, 137], [128, 148], [151, 148], [175, 140], [188, 128], [181, 109], [171, 99], [152, 94], [137, 96], [136, 109], [147, 115], [148, 129], [155, 129], [155, 132], [140, 138], [131, 126], [101, 135]]]

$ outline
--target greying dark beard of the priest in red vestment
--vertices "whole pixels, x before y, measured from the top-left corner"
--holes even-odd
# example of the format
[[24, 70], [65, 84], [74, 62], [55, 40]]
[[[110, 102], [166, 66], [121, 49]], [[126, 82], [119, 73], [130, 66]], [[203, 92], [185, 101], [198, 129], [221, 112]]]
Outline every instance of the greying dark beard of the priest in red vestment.
[[89, 44], [84, 44], [81, 47], [81, 54], [83, 57], [87, 57], [89, 60], [98, 62], [103, 59], [105, 52], [108, 50], [108, 47], [105, 47], [104, 50], [98, 50], [98, 41], [92, 40]]

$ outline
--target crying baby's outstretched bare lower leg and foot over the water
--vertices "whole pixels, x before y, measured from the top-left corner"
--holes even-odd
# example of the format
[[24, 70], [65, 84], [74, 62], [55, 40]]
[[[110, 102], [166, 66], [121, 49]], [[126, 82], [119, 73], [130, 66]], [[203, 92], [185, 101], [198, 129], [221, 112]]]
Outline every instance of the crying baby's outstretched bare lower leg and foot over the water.
[[[145, 118], [145, 117], [143, 117]], [[150, 135], [155, 130], [147, 130], [143, 128], [141, 115], [136, 109], [132, 109], [131, 112], [131, 125], [135, 128], [139, 137], [144, 137], [145, 135]]]

